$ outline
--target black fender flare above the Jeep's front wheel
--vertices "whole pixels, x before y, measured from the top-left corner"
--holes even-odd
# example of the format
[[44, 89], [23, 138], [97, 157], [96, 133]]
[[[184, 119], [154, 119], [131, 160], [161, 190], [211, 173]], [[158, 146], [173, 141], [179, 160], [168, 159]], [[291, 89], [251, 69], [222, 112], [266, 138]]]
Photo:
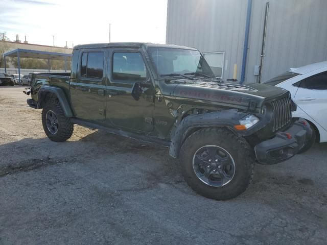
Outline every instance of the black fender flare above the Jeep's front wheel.
[[176, 130], [172, 132], [169, 155], [173, 158], [179, 157], [181, 145], [183, 144], [185, 138], [195, 128], [226, 127], [236, 134], [243, 136], [250, 135], [262, 128], [262, 126], [260, 127], [260, 123], [258, 123], [258, 125], [255, 125], [248, 130], [237, 131], [234, 126], [240, 124], [239, 120], [248, 114], [249, 113], [239, 112], [236, 109], [229, 109], [199, 115], [189, 115], [185, 117], [181, 120]]

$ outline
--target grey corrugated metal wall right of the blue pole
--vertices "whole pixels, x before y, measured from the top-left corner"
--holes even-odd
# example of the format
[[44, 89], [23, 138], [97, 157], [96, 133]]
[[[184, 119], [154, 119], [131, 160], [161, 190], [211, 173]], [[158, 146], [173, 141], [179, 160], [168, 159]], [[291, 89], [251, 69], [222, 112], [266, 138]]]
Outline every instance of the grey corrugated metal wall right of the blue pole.
[[255, 81], [260, 64], [265, 5], [269, 15], [262, 81], [290, 67], [327, 60], [327, 1], [253, 0], [246, 81]]

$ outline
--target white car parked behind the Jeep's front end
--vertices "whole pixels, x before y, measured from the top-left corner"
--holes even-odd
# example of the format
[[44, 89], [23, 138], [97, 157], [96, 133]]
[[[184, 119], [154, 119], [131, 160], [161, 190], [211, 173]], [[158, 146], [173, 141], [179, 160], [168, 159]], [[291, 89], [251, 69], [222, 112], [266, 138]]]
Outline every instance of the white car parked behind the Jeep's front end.
[[314, 133], [302, 152], [315, 141], [327, 142], [327, 61], [291, 68], [264, 83], [289, 90], [297, 105], [292, 117], [309, 121]]

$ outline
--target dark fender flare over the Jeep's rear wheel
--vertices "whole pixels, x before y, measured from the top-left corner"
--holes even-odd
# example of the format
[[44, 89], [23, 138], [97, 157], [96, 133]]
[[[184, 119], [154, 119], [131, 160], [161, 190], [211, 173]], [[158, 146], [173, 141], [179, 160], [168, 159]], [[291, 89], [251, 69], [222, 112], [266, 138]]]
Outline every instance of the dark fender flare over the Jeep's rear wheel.
[[59, 87], [42, 85], [38, 92], [37, 109], [41, 108], [42, 94], [47, 92], [54, 93], [57, 96], [66, 117], [73, 117], [73, 111], [69, 105], [69, 101], [67, 100], [64, 91]]

